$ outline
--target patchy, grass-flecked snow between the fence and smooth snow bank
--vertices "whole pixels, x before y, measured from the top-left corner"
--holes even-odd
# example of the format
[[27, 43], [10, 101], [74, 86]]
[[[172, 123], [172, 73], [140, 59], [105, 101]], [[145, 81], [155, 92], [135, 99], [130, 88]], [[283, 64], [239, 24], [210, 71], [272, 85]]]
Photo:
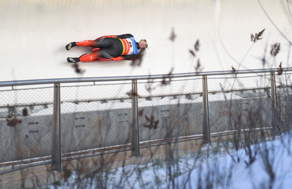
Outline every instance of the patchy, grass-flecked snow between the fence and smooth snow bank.
[[[210, 146], [215, 148], [215, 145], [215, 143], [212, 143]], [[177, 169], [174, 170], [174, 167], [172, 167], [172, 174], [178, 176], [187, 173], [208, 159], [216, 159], [226, 154], [223, 151], [208, 154], [208, 146], [209, 145], [201, 151], [174, 157], [171, 166], [176, 166]], [[198, 158], [198, 156], [200, 157]], [[103, 176], [104, 180], [102, 181], [102, 185], [104, 188], [157, 188], [168, 181], [168, 173], [168, 163], [165, 159], [160, 157], [146, 165], [129, 165], [112, 169], [107, 173], [104, 172], [100, 175], [96, 175], [96, 178], [100, 179], [100, 176]], [[85, 178], [86, 176], [82, 175], [81, 178], [82, 177]], [[69, 189], [79, 188], [81, 186], [86, 189], [102, 188], [96, 179], [81, 179], [82, 182], [78, 183], [77, 178], [77, 173], [73, 172], [68, 182], [62, 180], [61, 185], [50, 185], [48, 187], [51, 189]]]

